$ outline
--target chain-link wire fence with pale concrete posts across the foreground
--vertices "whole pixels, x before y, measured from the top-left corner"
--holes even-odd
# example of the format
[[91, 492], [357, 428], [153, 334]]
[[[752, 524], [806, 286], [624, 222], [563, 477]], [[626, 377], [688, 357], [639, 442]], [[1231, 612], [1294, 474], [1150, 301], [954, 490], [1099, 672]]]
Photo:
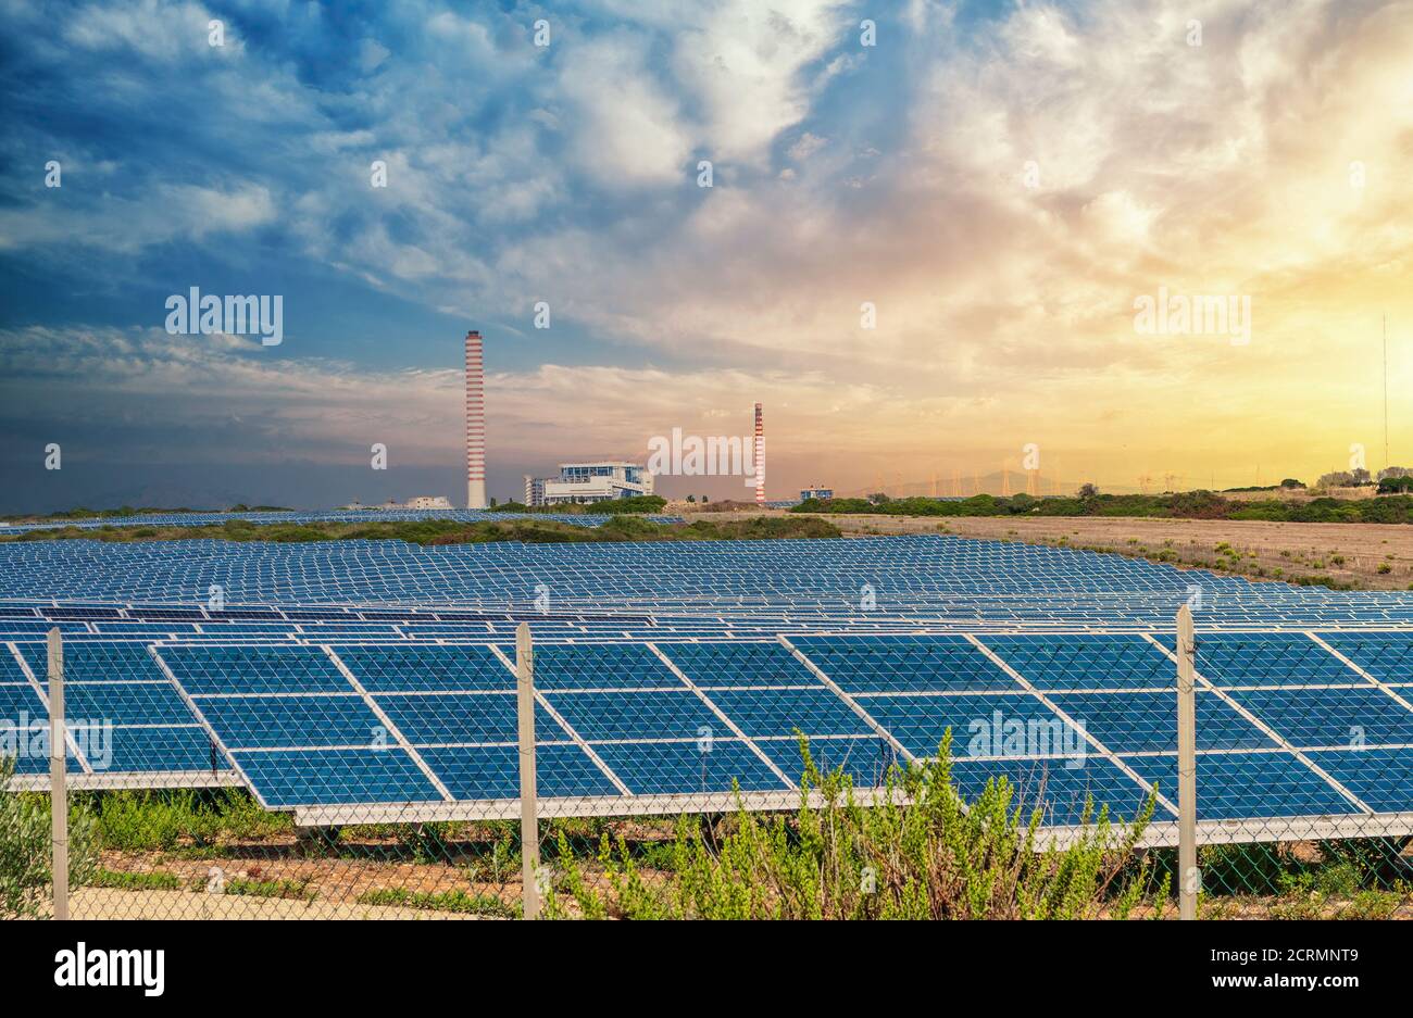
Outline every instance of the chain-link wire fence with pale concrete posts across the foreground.
[[55, 634], [3, 647], [0, 909], [1176, 918], [1186, 891], [1201, 916], [1410, 915], [1410, 648], [1393, 631]]

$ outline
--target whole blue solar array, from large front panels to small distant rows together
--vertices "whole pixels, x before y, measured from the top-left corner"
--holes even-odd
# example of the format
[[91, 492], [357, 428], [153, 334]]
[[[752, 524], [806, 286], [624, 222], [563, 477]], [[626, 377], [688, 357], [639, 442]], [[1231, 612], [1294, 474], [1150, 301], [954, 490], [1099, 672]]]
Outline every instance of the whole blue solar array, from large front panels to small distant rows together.
[[[232, 607], [201, 607], [213, 583]], [[554, 611], [534, 609], [538, 583]], [[964, 792], [1005, 777], [1063, 826], [1089, 798], [1132, 815], [1157, 782], [1169, 823], [1171, 620], [1194, 583], [1202, 819], [1413, 810], [1406, 596], [942, 535], [0, 545], [0, 729], [47, 719], [58, 623], [81, 778], [219, 784], [236, 767], [273, 809], [502, 815], [519, 795], [504, 655], [524, 617], [550, 801], [721, 809], [739, 786], [788, 808], [801, 733], [876, 788], [951, 729]], [[25, 762], [27, 786], [45, 770]]]

